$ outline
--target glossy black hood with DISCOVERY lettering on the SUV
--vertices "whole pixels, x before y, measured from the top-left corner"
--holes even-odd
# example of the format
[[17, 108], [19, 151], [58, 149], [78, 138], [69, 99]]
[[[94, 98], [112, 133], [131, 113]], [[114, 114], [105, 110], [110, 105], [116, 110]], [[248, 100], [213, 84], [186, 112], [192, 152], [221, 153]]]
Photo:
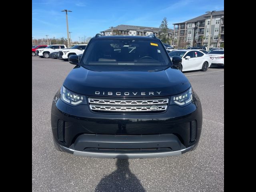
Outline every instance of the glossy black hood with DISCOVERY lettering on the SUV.
[[87, 96], [157, 97], [184, 92], [190, 83], [180, 70], [92, 71], [76, 66], [66, 77], [69, 90]]

